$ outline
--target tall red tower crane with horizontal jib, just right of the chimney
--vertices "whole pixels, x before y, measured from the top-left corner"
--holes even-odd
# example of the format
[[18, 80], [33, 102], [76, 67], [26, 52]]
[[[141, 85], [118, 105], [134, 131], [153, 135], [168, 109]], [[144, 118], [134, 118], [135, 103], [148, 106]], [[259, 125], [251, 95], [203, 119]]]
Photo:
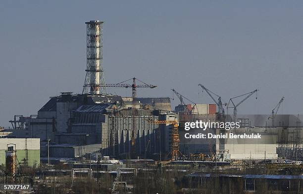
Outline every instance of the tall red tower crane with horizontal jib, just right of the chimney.
[[[133, 80], [132, 84], [126, 83], [129, 80]], [[136, 84], [136, 80], [140, 81], [142, 84]], [[136, 98], [137, 98], [137, 87], [145, 87], [145, 88], [155, 88], [157, 87], [156, 85], [152, 85], [152, 84], [147, 84], [143, 81], [141, 81], [138, 78], [130, 78], [127, 79], [125, 81], [121, 81], [120, 83], [102, 83], [102, 84], [98, 84], [98, 87], [125, 87], [125, 88], [132, 88], [132, 98], [133, 98], [133, 102], [132, 102], [132, 116], [133, 116], [133, 127], [132, 127], [132, 138], [131, 138], [131, 154], [134, 156], [135, 154], [135, 133], [136, 133]]]

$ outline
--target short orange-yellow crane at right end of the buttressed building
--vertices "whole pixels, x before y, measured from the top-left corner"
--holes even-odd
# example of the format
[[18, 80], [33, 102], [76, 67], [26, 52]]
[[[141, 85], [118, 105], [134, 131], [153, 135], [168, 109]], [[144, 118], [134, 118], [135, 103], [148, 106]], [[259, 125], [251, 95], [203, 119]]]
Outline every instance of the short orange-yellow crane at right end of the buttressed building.
[[148, 120], [149, 122], [156, 123], [156, 124], [172, 124], [172, 136], [171, 136], [171, 160], [178, 160], [180, 158], [180, 138], [178, 132], [178, 121], [176, 120]]

